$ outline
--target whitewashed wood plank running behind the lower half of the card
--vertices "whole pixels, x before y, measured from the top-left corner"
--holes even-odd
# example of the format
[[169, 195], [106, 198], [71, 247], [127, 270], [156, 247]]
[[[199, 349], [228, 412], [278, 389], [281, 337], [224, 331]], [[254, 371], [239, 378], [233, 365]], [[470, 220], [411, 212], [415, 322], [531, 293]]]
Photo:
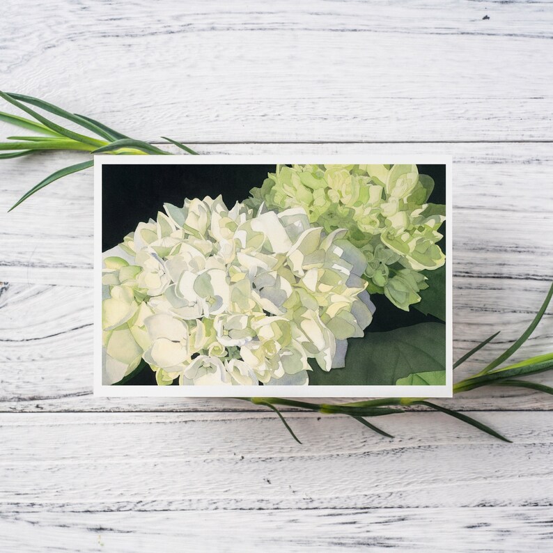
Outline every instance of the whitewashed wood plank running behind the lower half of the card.
[[[453, 352], [458, 359], [476, 343], [501, 329], [501, 335], [466, 366], [455, 380], [476, 373], [503, 352], [531, 322], [547, 283], [455, 279]], [[516, 298], [516, 302], [513, 300]], [[0, 295], [0, 411], [241, 410], [235, 400], [184, 398], [94, 398], [91, 288], [9, 284]], [[552, 350], [550, 309], [519, 361]], [[549, 374], [534, 377], [551, 384]], [[458, 409], [551, 410], [550, 396], [524, 389], [492, 387], [462, 394], [448, 405]]]

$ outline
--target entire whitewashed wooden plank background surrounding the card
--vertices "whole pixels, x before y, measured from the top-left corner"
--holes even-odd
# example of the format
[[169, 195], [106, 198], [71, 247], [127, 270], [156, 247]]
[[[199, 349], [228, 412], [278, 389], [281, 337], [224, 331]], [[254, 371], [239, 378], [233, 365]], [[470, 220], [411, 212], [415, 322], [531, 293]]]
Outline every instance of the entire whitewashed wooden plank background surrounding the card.
[[[520, 334], [553, 278], [550, 1], [4, 0], [0, 37], [2, 90], [137, 138], [452, 154], [455, 356], [504, 329], [465, 371]], [[2, 162], [0, 212], [80, 159]], [[0, 217], [2, 551], [552, 549], [545, 396], [447, 403], [511, 445], [443, 414], [384, 417], [391, 441], [288, 413], [303, 446], [237, 401], [93, 398], [92, 191], [82, 173]], [[513, 359], [551, 350], [552, 325]]]

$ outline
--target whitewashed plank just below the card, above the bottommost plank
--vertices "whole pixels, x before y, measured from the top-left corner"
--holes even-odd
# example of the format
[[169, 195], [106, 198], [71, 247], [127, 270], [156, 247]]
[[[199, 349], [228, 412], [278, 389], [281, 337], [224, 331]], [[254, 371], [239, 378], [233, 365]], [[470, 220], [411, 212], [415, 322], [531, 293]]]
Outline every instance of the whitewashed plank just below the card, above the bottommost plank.
[[[550, 506], [553, 414], [1, 414], [1, 517], [48, 511]], [[384, 420], [385, 419], [385, 420]]]

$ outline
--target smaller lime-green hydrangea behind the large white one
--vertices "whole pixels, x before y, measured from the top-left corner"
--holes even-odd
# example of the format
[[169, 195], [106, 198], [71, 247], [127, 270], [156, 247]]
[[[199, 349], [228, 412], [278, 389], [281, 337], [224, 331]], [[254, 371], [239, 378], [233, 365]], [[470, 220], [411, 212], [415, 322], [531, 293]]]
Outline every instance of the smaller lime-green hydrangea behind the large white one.
[[422, 270], [444, 265], [437, 245], [444, 206], [428, 203], [434, 182], [416, 165], [277, 166], [247, 205], [277, 211], [302, 208], [309, 221], [346, 237], [367, 260], [368, 290], [405, 311], [428, 288]]

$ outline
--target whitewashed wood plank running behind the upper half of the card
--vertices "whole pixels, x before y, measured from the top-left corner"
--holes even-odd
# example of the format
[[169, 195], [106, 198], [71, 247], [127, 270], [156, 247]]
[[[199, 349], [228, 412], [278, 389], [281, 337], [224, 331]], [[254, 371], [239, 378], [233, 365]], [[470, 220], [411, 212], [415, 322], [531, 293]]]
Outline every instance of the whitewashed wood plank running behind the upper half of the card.
[[[452, 153], [453, 269], [458, 276], [551, 279], [553, 154], [549, 144], [198, 145], [202, 153], [385, 155]], [[0, 166], [0, 212], [49, 172], [83, 159], [66, 154]], [[56, 182], [0, 219], [0, 279], [91, 286], [91, 172]]]

